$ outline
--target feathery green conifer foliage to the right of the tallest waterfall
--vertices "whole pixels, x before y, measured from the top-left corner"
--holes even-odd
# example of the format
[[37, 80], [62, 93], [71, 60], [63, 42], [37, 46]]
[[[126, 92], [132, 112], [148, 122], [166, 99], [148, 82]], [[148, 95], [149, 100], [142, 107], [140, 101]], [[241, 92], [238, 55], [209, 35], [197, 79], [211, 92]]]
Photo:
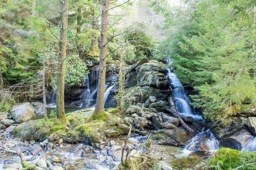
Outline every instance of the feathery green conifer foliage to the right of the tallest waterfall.
[[180, 81], [198, 91], [191, 96], [193, 105], [211, 120], [255, 110], [253, 6], [255, 1], [191, 1], [179, 23], [168, 22], [166, 15], [173, 34], [154, 57], [173, 59]]

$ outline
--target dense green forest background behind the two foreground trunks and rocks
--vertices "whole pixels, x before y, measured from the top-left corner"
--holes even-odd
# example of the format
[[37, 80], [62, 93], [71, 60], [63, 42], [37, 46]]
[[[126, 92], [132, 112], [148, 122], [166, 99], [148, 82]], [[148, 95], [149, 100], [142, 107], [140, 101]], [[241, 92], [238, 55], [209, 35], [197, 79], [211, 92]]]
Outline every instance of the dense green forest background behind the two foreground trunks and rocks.
[[[178, 5], [131, 1], [109, 14], [108, 63], [119, 62], [121, 45], [125, 64], [143, 57], [171, 59], [182, 83], [194, 90], [193, 106], [205, 117], [216, 121], [254, 115], [255, 4], [253, 0]], [[47, 95], [55, 88], [60, 8], [58, 1], [0, 1], [1, 111], [12, 103], [40, 99], [43, 79]], [[100, 8], [95, 1], [70, 1], [66, 90], [81, 85], [90, 63], [99, 58], [99, 45], [93, 48], [92, 42], [100, 41]], [[154, 19], [146, 20], [147, 15]]]

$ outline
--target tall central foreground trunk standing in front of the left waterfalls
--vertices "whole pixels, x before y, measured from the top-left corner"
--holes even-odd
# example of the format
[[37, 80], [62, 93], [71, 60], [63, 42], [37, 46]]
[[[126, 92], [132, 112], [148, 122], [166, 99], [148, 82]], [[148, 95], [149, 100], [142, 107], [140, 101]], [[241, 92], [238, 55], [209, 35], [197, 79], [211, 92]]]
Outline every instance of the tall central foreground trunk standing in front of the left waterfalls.
[[106, 56], [107, 56], [107, 34], [108, 34], [108, 0], [102, 0], [101, 36], [100, 36], [100, 74], [98, 82], [97, 101], [95, 114], [104, 111], [104, 92], [106, 81]]

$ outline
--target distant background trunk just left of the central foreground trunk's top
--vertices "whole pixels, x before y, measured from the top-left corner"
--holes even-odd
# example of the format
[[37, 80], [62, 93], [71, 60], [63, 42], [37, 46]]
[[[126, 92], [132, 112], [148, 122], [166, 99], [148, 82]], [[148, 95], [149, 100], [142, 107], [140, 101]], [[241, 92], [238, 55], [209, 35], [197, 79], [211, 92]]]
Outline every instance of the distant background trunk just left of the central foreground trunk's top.
[[[99, 4], [99, 0], [94, 0], [94, 5], [97, 6]], [[92, 37], [92, 50], [97, 50], [98, 47], [98, 17], [97, 17], [97, 10], [93, 10], [93, 22], [92, 28], [94, 29], [93, 37]]]

